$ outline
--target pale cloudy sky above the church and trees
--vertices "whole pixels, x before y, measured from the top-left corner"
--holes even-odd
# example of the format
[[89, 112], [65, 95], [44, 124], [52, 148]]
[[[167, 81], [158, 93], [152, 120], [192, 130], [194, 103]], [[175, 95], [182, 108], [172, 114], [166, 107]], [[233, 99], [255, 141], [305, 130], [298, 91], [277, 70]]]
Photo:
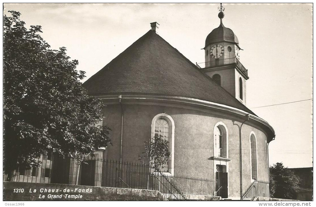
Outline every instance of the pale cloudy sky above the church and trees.
[[[41, 25], [41, 36], [52, 49], [66, 47], [67, 55], [79, 61], [77, 70], [86, 71], [85, 81], [143, 36], [154, 21], [160, 24], [157, 33], [191, 62], [205, 62], [201, 48], [219, 26], [218, 6], [4, 3], [3, 13], [19, 11], [27, 27]], [[223, 24], [237, 35], [243, 49], [240, 62], [250, 77], [246, 106], [276, 133], [269, 144], [270, 165], [312, 167], [312, 4], [223, 6]], [[298, 102], [288, 103], [294, 101]]]

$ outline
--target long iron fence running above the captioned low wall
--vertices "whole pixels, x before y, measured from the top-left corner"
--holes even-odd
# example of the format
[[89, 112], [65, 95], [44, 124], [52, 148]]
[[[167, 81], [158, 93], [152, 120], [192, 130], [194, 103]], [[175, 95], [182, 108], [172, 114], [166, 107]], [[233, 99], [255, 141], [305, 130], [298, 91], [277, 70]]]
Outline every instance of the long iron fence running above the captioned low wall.
[[216, 192], [214, 180], [173, 176], [145, 164], [102, 160], [97, 154], [81, 161], [53, 155], [42, 155], [39, 160], [42, 164], [37, 168], [17, 167], [11, 180], [149, 189], [160, 191], [173, 200], [185, 200], [185, 195], [214, 196]]

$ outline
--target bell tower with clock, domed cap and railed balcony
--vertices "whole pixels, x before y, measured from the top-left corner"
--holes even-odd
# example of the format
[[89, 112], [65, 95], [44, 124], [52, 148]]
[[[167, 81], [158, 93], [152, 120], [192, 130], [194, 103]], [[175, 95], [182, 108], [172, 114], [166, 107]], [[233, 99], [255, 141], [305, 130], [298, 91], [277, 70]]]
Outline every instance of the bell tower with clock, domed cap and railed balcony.
[[225, 8], [218, 7], [219, 27], [207, 35], [205, 40], [205, 68], [201, 70], [217, 84], [225, 88], [241, 103], [246, 104], [246, 80], [248, 71], [240, 63], [238, 38], [234, 32], [224, 27]]

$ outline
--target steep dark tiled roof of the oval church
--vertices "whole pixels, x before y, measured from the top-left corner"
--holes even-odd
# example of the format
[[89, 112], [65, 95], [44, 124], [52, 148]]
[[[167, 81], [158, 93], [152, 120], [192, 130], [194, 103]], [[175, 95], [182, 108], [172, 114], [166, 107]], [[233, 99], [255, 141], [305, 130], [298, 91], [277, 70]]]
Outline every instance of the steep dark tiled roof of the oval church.
[[254, 114], [152, 30], [90, 77], [83, 86], [90, 95], [181, 96]]

